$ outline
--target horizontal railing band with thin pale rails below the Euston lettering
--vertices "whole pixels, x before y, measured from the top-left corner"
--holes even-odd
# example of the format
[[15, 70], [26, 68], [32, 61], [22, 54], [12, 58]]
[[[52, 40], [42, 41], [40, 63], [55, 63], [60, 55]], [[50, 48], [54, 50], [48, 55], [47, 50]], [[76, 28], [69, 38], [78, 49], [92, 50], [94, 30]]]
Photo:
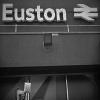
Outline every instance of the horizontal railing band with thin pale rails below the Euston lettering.
[[0, 35], [100, 33], [100, 25], [0, 25]]

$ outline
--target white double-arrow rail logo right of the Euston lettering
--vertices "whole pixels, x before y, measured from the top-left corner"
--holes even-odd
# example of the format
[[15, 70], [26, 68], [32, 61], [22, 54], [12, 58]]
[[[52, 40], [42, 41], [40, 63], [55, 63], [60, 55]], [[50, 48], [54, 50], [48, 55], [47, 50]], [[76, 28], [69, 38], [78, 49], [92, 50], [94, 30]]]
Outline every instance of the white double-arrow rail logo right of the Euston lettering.
[[98, 10], [97, 8], [90, 8], [87, 5], [84, 4], [77, 4], [80, 8], [74, 8], [74, 17], [75, 18], [82, 18], [86, 21], [93, 22], [93, 18], [98, 17], [98, 13], [96, 13]]

